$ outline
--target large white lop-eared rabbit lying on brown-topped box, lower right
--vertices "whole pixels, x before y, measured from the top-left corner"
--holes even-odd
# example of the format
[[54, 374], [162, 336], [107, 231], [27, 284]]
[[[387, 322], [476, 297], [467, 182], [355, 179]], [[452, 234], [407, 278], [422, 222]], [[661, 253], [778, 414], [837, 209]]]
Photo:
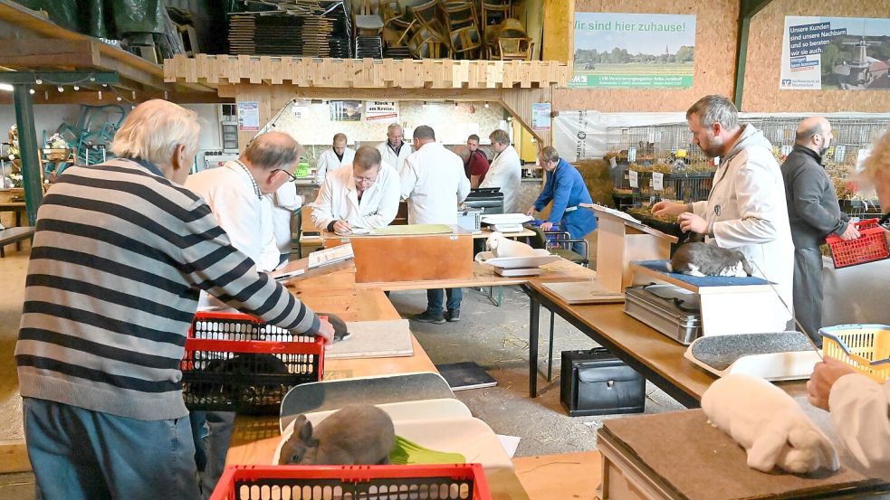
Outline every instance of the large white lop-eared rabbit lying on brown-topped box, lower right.
[[791, 396], [761, 378], [732, 374], [713, 382], [702, 410], [748, 451], [748, 467], [769, 472], [778, 466], [795, 474], [840, 468], [828, 437]]

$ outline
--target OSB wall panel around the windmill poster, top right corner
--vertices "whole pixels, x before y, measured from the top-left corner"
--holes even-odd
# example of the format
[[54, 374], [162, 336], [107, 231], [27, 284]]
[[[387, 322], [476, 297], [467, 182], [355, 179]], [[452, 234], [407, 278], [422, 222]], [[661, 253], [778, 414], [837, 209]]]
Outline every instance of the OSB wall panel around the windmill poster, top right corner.
[[[890, 111], [890, 90], [780, 90], [786, 15], [887, 17], [890, 0], [773, 0], [751, 19], [742, 110], [829, 113]], [[697, 46], [697, 44], [696, 44]]]

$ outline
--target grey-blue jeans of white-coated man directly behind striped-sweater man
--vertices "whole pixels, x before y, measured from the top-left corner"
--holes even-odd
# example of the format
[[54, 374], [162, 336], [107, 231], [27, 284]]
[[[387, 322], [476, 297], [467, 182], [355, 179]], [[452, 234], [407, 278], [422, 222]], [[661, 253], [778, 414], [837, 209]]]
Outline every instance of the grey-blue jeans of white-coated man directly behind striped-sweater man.
[[192, 411], [195, 463], [200, 473], [201, 496], [210, 498], [225, 469], [225, 455], [232, 442], [234, 411]]

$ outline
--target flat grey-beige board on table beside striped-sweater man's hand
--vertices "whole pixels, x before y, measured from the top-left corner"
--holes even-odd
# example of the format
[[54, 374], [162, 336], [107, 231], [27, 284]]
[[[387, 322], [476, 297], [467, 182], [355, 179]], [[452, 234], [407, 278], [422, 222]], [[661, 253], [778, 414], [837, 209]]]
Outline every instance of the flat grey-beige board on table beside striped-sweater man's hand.
[[328, 359], [382, 358], [414, 354], [407, 319], [383, 321], [347, 321], [352, 336], [331, 345]]

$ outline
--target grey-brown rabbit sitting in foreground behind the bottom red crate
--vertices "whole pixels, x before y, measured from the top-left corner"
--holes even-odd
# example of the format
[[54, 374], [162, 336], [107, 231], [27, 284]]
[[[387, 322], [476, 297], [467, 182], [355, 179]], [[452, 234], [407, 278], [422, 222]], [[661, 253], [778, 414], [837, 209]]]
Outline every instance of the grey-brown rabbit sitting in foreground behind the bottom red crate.
[[370, 404], [350, 404], [322, 420], [300, 415], [291, 439], [282, 446], [279, 465], [351, 466], [389, 463], [396, 430], [386, 411]]

